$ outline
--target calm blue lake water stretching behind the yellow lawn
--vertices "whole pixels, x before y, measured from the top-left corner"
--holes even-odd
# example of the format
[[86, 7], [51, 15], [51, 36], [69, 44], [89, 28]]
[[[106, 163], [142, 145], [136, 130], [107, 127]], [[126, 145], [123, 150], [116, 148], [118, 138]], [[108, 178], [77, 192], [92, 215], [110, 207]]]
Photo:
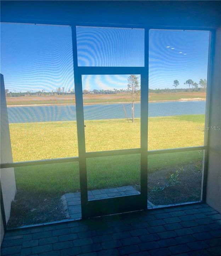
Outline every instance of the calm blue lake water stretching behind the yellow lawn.
[[[150, 102], [149, 117], [205, 114], [205, 101]], [[131, 118], [131, 103], [124, 103]], [[75, 121], [74, 105], [8, 107], [9, 123]], [[135, 103], [135, 117], [140, 117], [140, 103]], [[123, 104], [97, 104], [84, 106], [85, 120], [126, 118]]]

